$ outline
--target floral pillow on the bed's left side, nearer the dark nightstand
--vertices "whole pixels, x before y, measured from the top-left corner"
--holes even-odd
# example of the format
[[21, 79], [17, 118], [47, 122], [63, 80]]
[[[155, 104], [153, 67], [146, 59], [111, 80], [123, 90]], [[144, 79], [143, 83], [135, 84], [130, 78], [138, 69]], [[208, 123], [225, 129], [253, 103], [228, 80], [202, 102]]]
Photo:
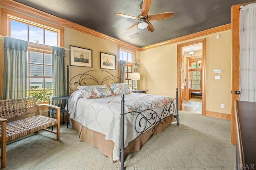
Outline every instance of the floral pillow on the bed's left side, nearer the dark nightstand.
[[83, 97], [86, 99], [114, 96], [107, 84], [97, 86], [78, 86], [77, 88], [82, 92]]

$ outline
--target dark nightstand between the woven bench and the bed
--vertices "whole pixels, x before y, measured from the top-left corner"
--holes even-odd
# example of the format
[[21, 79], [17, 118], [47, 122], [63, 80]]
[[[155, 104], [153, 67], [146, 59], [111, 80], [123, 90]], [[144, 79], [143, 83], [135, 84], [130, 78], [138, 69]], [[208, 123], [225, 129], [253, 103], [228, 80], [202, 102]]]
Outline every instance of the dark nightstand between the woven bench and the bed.
[[[62, 112], [62, 124], [65, 123], [64, 121], [64, 112], [67, 113], [67, 128], [68, 128], [68, 99], [69, 97], [68, 96], [65, 96], [65, 95], [60, 95], [60, 96], [49, 96], [49, 104], [51, 103], [52, 101], [52, 105], [56, 105], [56, 102], [57, 101], [61, 101], [61, 106], [60, 106], [60, 113]], [[65, 100], [66, 100], [66, 104], [67, 104], [67, 110], [65, 110]], [[51, 114], [51, 117], [53, 118], [53, 115], [56, 114], [56, 109], [48, 109], [48, 117], [50, 117], [50, 114]]]

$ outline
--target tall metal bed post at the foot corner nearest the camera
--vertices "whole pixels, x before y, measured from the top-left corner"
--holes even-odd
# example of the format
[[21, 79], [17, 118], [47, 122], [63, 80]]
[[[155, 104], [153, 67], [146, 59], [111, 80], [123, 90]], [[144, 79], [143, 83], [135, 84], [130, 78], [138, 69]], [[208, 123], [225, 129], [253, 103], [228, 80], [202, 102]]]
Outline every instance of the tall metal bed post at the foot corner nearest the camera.
[[124, 170], [124, 94], [121, 100], [121, 149], [120, 149], [121, 170]]

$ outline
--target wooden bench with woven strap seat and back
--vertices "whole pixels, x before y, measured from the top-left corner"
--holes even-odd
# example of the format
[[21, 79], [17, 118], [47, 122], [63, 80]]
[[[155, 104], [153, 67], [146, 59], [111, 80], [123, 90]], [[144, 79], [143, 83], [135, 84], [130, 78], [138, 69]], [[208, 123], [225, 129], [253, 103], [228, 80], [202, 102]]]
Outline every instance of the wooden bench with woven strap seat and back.
[[[56, 119], [40, 115], [38, 106], [56, 109]], [[7, 123], [7, 119], [29, 114], [34, 114], [34, 116]], [[34, 97], [0, 100], [0, 123], [1, 168], [6, 167], [6, 142], [8, 141], [30, 133], [36, 133], [39, 130], [54, 133], [57, 136], [56, 139], [60, 140], [60, 107], [36, 104], [36, 98]], [[53, 125], [56, 125], [56, 132], [46, 129]]]

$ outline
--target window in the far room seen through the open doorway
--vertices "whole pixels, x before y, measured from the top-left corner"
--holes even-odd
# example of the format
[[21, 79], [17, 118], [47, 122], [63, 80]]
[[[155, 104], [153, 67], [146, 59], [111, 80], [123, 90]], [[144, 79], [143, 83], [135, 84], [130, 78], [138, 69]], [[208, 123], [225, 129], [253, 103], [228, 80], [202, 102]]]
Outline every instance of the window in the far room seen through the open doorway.
[[193, 90], [201, 90], [201, 80], [202, 80], [202, 64], [198, 64], [197, 62], [192, 62], [191, 64], [191, 84]]

